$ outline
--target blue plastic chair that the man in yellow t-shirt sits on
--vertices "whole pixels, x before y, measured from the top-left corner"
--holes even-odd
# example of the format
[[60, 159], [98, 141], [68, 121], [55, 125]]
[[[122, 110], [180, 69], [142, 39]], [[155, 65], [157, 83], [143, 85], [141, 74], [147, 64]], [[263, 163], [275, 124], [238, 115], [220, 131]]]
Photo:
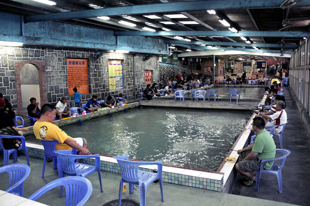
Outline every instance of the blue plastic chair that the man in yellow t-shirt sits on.
[[[60, 144], [58, 141], [45, 141], [41, 140], [41, 144], [44, 148], [44, 159], [43, 159], [43, 169], [42, 169], [42, 178], [44, 178], [45, 164], [46, 159], [52, 159], [53, 169], [57, 169], [57, 155], [54, 153], [56, 150], [56, 144]], [[76, 150], [72, 148], [72, 154], [76, 155]]]

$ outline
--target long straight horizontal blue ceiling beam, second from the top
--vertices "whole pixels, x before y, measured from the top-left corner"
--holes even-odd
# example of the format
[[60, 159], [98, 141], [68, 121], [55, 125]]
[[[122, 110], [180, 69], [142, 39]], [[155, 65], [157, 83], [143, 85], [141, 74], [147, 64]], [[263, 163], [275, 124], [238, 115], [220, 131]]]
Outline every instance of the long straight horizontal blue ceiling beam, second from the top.
[[258, 36], [258, 37], [307, 37], [307, 31], [115, 31], [118, 36]]

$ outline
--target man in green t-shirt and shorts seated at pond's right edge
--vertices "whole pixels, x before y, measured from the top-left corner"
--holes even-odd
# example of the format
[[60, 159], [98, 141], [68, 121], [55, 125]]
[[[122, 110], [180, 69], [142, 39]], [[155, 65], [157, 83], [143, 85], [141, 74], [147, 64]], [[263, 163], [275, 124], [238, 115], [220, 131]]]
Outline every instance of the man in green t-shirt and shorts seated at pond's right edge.
[[[255, 117], [252, 128], [257, 133], [254, 143], [237, 151], [241, 155], [242, 161], [235, 165], [235, 169], [245, 176], [242, 184], [247, 187], [255, 184], [256, 177], [254, 176], [254, 171], [259, 170], [260, 161], [273, 159], [275, 156], [275, 144], [269, 132], [265, 130], [263, 118]], [[269, 170], [272, 165], [273, 162], [266, 162], [264, 169]]]

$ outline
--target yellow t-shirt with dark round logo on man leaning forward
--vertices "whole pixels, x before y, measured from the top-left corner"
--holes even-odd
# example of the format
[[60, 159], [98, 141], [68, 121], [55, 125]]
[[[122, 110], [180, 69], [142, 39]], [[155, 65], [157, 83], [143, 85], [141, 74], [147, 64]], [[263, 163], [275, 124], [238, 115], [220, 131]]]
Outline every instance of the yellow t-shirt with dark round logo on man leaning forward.
[[36, 121], [33, 125], [33, 134], [36, 139], [52, 141], [57, 140], [61, 144], [56, 144], [56, 150], [71, 150], [72, 148], [67, 144], [64, 144], [67, 138], [70, 138], [75, 141], [74, 138], [68, 136], [63, 132], [57, 125], [54, 125], [50, 122], [40, 122]]

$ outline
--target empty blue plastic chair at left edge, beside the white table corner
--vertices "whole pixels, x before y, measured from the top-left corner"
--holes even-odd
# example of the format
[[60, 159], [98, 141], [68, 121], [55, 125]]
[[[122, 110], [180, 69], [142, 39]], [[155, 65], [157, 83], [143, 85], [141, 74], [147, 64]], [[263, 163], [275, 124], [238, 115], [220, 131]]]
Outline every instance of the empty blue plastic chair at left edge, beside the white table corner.
[[30, 174], [30, 168], [24, 164], [13, 164], [0, 167], [0, 173], [8, 173], [7, 193], [23, 197], [23, 183]]

